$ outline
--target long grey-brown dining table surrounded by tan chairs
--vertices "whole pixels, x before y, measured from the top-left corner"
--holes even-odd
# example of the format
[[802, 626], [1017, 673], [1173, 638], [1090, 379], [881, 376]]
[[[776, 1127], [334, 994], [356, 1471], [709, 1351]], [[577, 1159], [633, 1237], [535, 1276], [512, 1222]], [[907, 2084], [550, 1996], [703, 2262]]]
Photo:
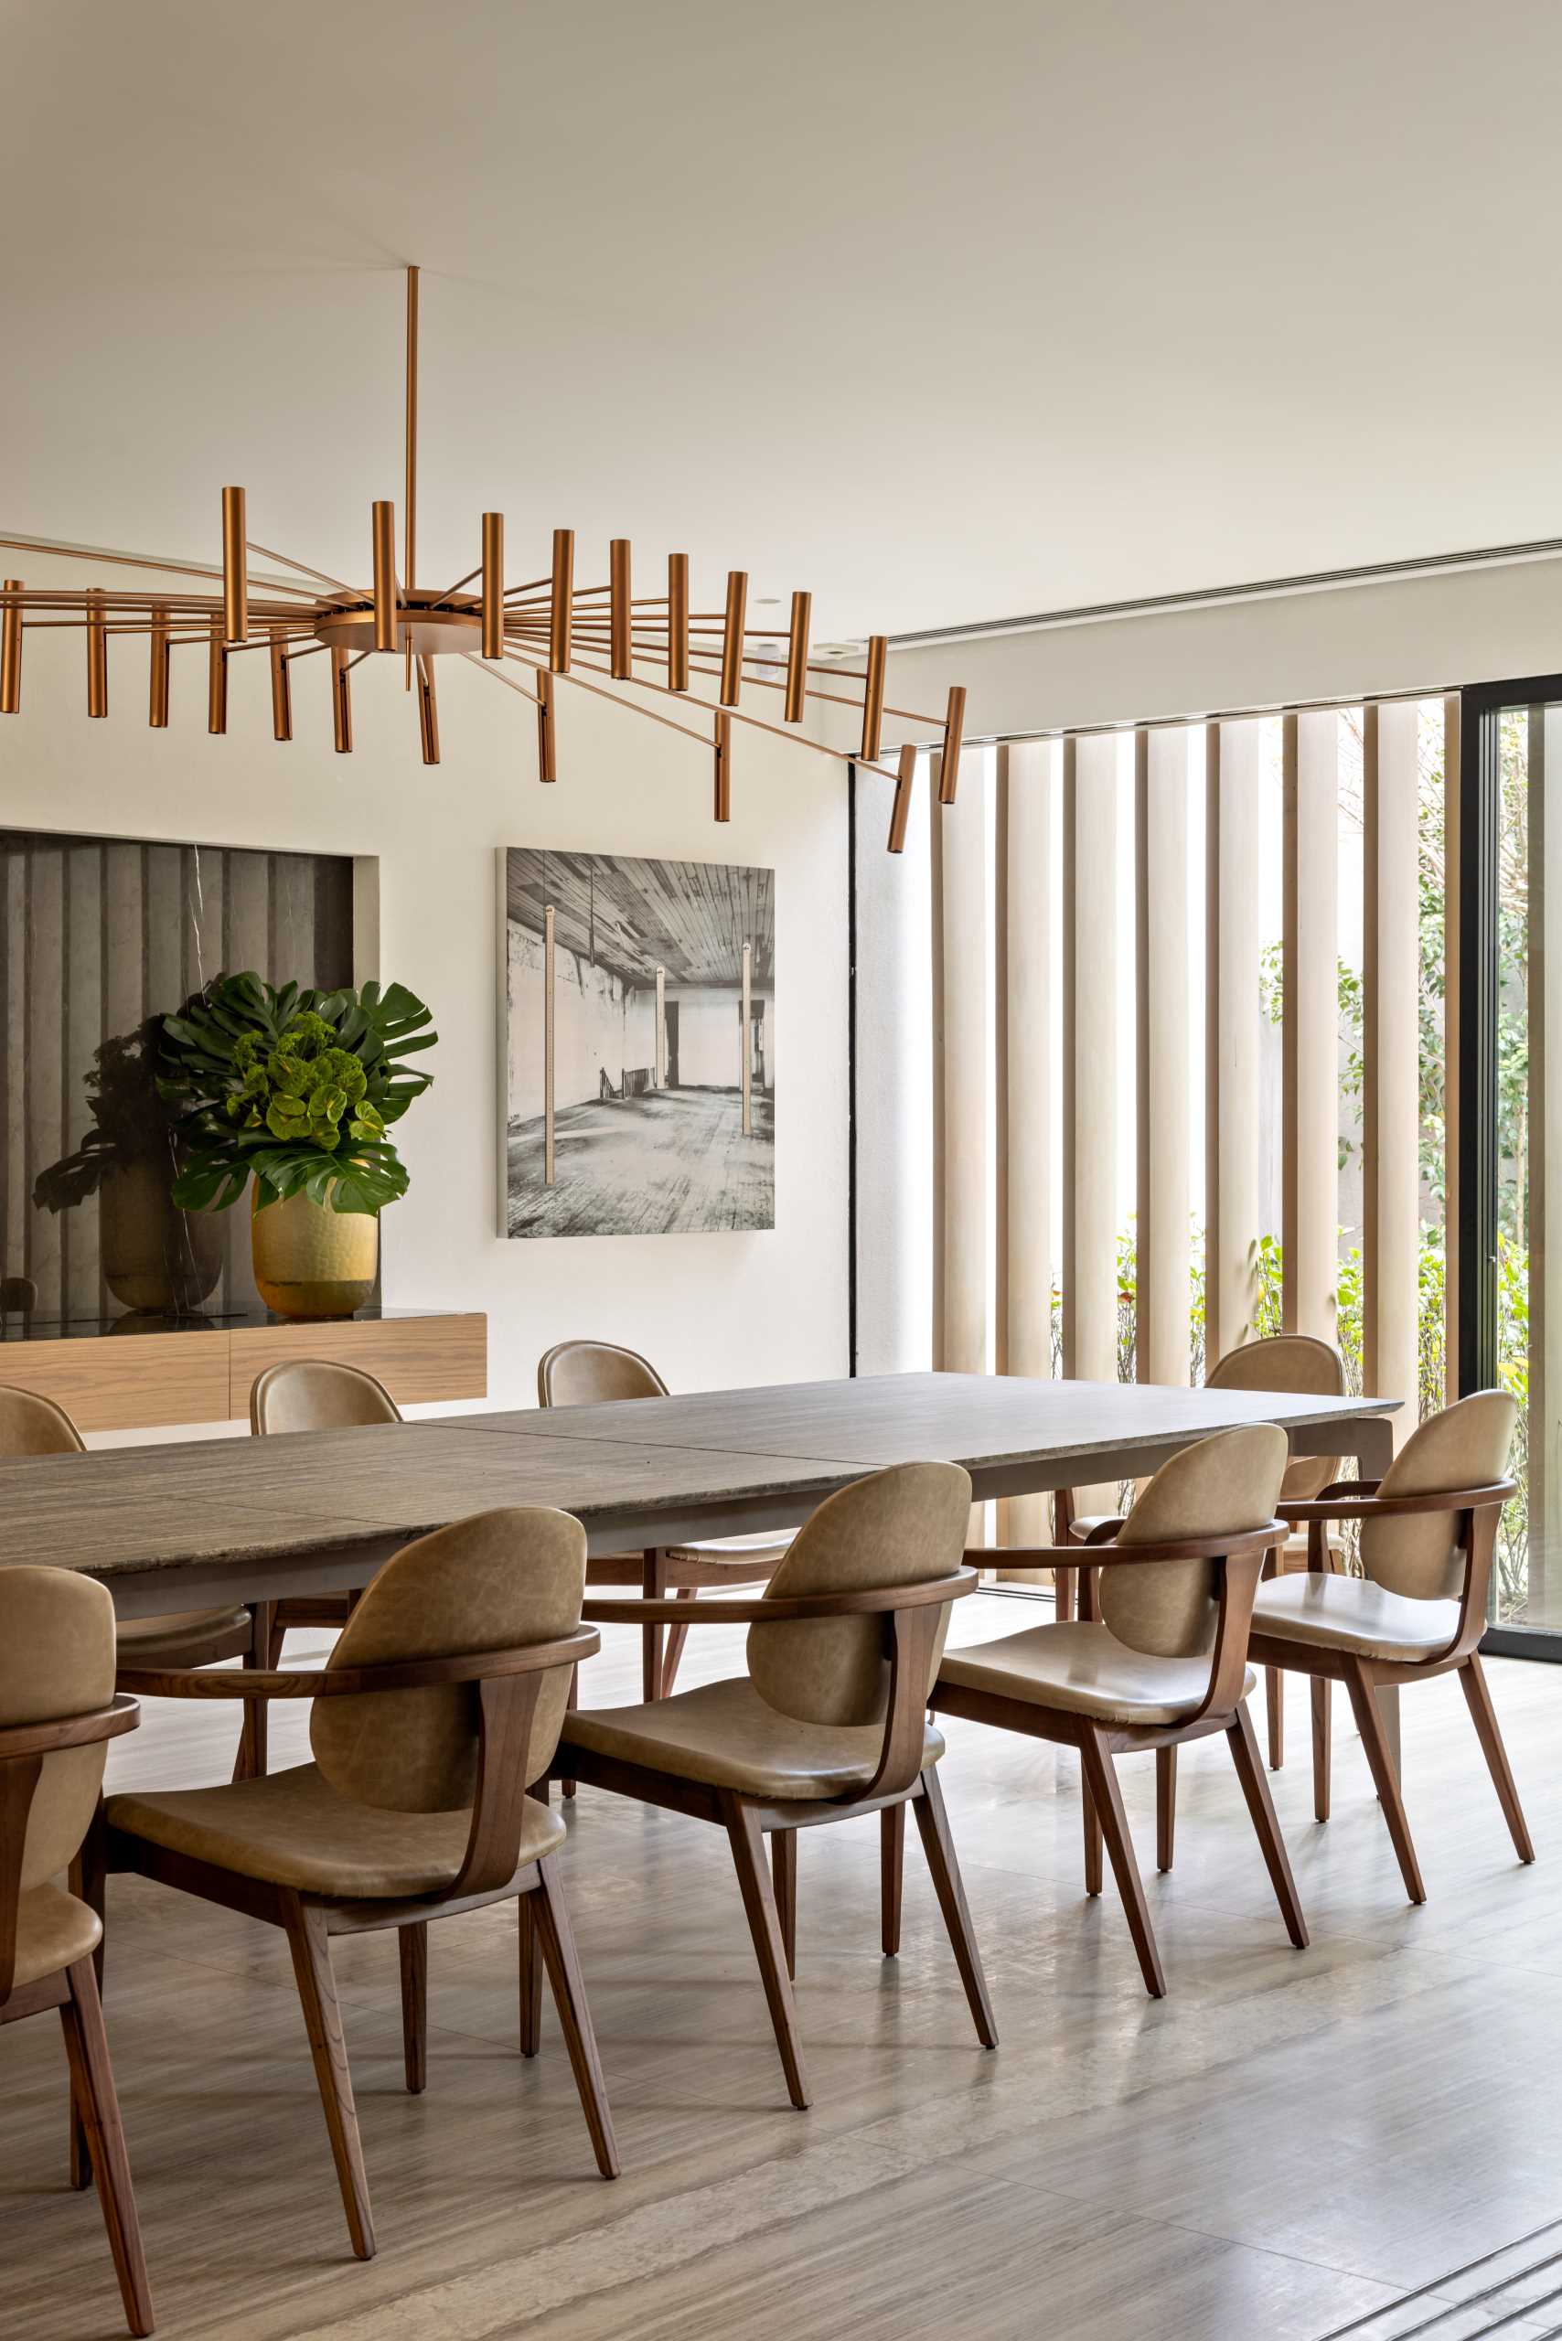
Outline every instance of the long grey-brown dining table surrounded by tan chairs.
[[344, 1592], [415, 1536], [557, 1505], [592, 1554], [789, 1529], [890, 1463], [960, 1463], [974, 1501], [1122, 1482], [1213, 1430], [1279, 1423], [1295, 1454], [1379, 1477], [1396, 1398], [1185, 1391], [1019, 1374], [859, 1374], [349, 1430], [0, 1463], [0, 1568], [98, 1578], [122, 1618]]

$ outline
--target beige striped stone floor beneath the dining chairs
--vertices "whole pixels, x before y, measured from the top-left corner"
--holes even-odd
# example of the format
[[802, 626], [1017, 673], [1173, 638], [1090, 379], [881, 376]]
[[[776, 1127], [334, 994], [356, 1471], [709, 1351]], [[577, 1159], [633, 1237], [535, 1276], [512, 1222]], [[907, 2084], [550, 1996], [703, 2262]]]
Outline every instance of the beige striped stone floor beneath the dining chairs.
[[[984, 1594], [958, 1639], [1030, 1622]], [[686, 1678], [735, 1662], [738, 1634], [712, 1627]], [[588, 1704], [635, 1697], [637, 1669], [637, 1636], [611, 1632]], [[1084, 1901], [1073, 1758], [953, 1723], [944, 1784], [1002, 2046], [977, 2048], [916, 1833], [897, 1962], [878, 1957], [876, 1826], [808, 1833], [808, 2114], [785, 2100], [724, 1840], [581, 1791], [567, 1882], [625, 2175], [595, 2177], [550, 2011], [543, 2055], [515, 2053], [511, 1910], [431, 1931], [417, 2100], [391, 1941], [342, 1943], [370, 2266], [347, 2250], [283, 1941], [112, 1880], [108, 2027], [159, 2332], [1534, 2341], [1562, 2327], [1541, 2280], [1482, 2301], [1478, 2273], [1454, 2273], [1562, 2219], [1562, 1671], [1494, 1662], [1492, 1686], [1541, 1859], [1515, 1866], [1464, 1700], [1429, 1683], [1405, 1697], [1424, 1910], [1400, 1896], [1344, 1721], [1335, 1819], [1311, 1821], [1293, 1693], [1276, 1803], [1307, 1952], [1286, 1943], [1225, 1746], [1183, 1756], [1171, 1877], [1152, 1873], [1152, 1765], [1126, 1763], [1162, 2006], [1112, 1889]], [[302, 1730], [279, 1716], [274, 1763]], [[211, 1709], [148, 1709], [110, 1784], [218, 1779], [229, 1732]], [[122, 2332], [96, 2205], [66, 2186], [49, 2018], [0, 2034], [0, 2334]], [[1396, 2306], [1414, 2287], [1431, 2292]]]

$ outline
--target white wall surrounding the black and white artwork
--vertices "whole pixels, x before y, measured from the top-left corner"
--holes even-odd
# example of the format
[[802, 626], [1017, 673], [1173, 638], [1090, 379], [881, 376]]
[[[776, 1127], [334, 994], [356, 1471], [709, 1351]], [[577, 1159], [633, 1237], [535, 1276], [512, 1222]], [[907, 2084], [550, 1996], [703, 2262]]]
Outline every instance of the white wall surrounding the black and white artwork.
[[[47, 567], [68, 581], [66, 562]], [[450, 665], [445, 761], [426, 770], [391, 658], [354, 674], [356, 751], [335, 756], [326, 658], [295, 670], [295, 740], [276, 744], [265, 651], [234, 655], [229, 735], [211, 740], [199, 648], [173, 651], [173, 721], [152, 733], [138, 644], [110, 646], [110, 716], [89, 721], [80, 634], [33, 632], [21, 714], [0, 721], [5, 822], [379, 857], [382, 972], [440, 1030], [424, 1060], [436, 1086], [398, 1126], [412, 1192], [384, 1215], [384, 1299], [485, 1309], [492, 1405], [532, 1405], [536, 1358], [567, 1334], [646, 1351], [674, 1391], [845, 1372], [843, 766], [738, 728], [733, 819], [717, 829], [693, 742], [560, 684], [560, 782], [543, 789], [525, 700]], [[780, 988], [808, 1039], [777, 1100], [775, 1229], [496, 1234], [499, 845], [775, 869]]]

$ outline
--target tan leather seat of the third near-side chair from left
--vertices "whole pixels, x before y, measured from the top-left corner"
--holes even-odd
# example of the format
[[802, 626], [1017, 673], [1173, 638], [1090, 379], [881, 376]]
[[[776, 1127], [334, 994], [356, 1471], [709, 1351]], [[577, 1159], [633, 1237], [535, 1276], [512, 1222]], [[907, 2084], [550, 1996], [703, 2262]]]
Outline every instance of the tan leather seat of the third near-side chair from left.
[[[747, 1676], [735, 1676], [649, 1707], [574, 1707], [564, 1716], [564, 1746], [742, 1796], [824, 1803], [874, 1779], [883, 1723], [799, 1723], [768, 1707]], [[930, 1725], [923, 1746], [923, 1765], [937, 1763], [944, 1735]]]

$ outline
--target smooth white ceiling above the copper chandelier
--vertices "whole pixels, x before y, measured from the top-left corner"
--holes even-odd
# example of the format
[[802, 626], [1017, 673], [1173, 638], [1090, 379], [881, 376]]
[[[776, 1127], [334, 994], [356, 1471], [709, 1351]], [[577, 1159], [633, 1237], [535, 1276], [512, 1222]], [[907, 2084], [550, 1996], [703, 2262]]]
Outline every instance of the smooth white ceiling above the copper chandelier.
[[417, 260], [422, 583], [501, 508], [829, 639], [1562, 534], [1550, 0], [0, 0], [0, 59], [5, 529], [215, 557], [234, 480], [361, 576]]

